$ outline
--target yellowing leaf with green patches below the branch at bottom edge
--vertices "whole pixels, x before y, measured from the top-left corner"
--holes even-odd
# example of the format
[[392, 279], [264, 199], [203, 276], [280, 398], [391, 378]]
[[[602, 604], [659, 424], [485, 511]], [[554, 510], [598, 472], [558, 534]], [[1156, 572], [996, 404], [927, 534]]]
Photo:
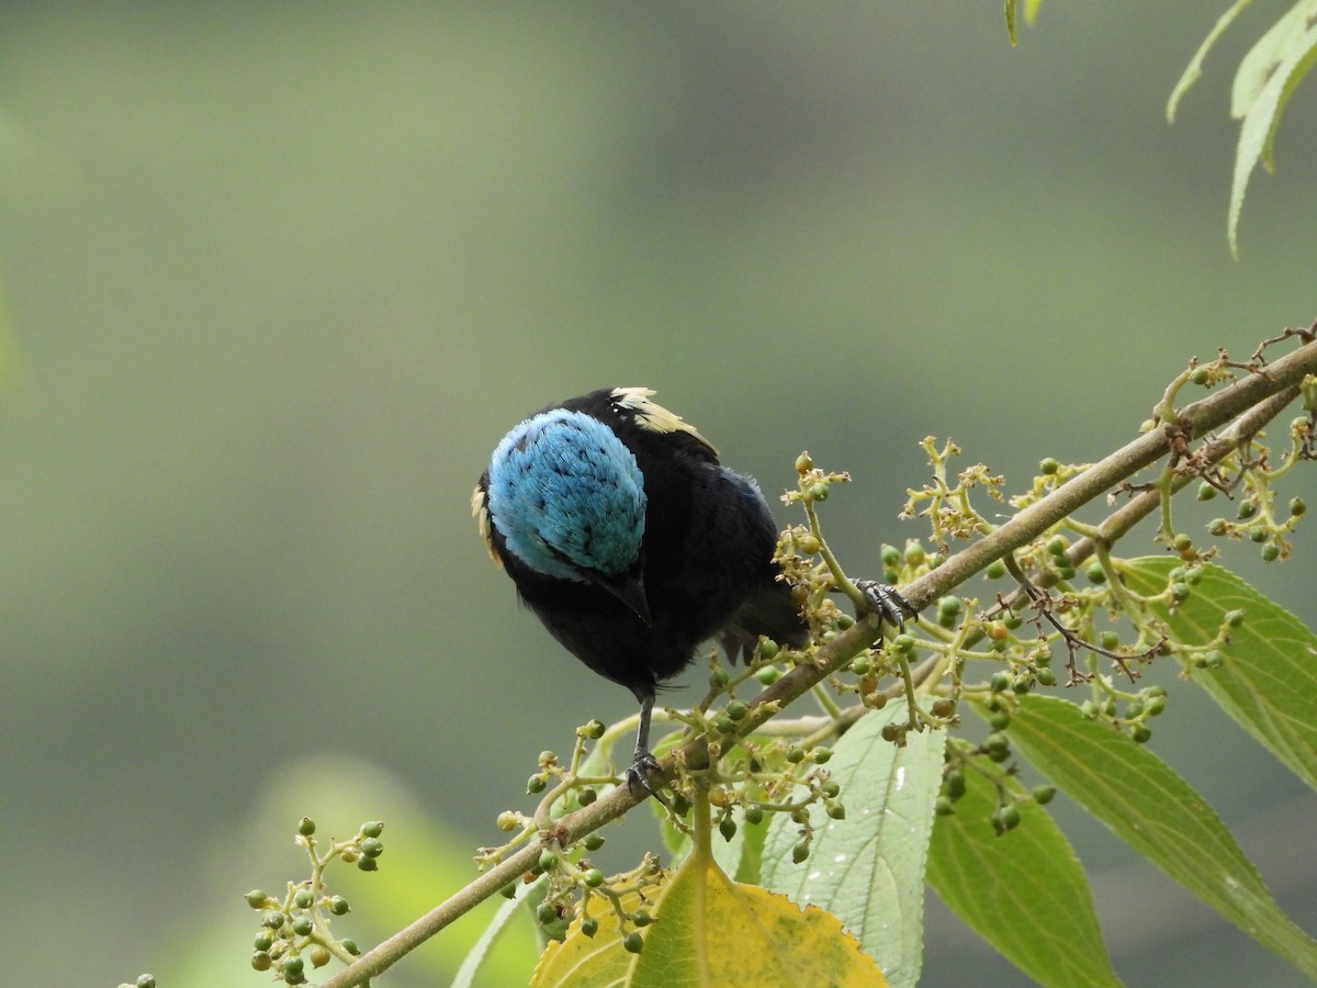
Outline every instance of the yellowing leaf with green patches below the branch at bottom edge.
[[[886, 984], [835, 916], [735, 883], [709, 854], [693, 854], [649, 900], [655, 922], [644, 930], [640, 954], [627, 952], [616, 930], [605, 933], [603, 923], [594, 939], [582, 935], [578, 919], [566, 941], [549, 945], [531, 987]], [[631, 896], [626, 908], [635, 909], [637, 901]]]

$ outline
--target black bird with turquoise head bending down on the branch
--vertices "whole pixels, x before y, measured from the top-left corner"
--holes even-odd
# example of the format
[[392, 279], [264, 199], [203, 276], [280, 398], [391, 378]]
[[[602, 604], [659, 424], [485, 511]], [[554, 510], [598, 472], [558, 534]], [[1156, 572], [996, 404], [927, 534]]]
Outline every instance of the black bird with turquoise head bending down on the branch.
[[652, 761], [656, 689], [701, 642], [719, 638], [735, 659], [760, 635], [807, 638], [759, 487], [651, 394], [606, 389], [532, 415], [495, 449], [471, 499], [525, 605], [640, 701], [640, 771]]

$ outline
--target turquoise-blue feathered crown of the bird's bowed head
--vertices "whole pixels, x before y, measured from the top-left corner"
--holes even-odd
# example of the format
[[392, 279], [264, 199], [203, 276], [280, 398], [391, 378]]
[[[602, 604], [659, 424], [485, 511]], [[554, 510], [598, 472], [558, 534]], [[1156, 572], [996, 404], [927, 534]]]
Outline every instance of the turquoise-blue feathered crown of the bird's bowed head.
[[554, 408], [508, 432], [490, 462], [486, 508], [507, 549], [544, 576], [608, 582], [640, 559], [636, 457], [585, 412]]

